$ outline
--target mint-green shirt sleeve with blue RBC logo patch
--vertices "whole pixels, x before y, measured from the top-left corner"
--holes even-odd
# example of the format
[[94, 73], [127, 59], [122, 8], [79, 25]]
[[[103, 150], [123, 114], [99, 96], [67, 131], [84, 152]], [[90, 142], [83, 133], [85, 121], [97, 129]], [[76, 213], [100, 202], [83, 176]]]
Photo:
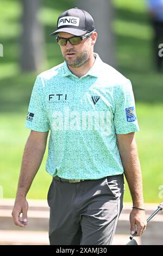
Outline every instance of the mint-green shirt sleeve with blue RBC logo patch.
[[131, 82], [116, 89], [114, 125], [117, 134], [139, 131]]

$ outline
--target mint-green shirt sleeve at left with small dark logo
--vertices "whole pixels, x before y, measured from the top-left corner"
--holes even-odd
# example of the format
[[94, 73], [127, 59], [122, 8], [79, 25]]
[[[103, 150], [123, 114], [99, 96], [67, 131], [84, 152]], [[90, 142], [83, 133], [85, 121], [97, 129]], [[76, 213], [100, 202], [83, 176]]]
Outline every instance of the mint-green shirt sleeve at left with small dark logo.
[[43, 107], [43, 92], [42, 81], [39, 76], [37, 76], [32, 95], [30, 97], [26, 127], [30, 130], [38, 132], [46, 132], [50, 130], [49, 120], [46, 113], [45, 107]]

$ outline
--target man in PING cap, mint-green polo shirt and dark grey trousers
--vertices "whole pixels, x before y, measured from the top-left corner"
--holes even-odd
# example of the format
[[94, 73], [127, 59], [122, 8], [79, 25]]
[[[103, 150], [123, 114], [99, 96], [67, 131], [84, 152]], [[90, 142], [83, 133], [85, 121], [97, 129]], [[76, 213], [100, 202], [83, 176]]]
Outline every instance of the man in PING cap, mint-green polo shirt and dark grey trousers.
[[[131, 234], [146, 228], [134, 132], [139, 130], [130, 81], [102, 62], [89, 13], [58, 18], [57, 42], [65, 62], [40, 74], [30, 99], [31, 129], [12, 216], [27, 224], [26, 195], [46, 148], [51, 245], [110, 245], [122, 210], [123, 172], [133, 198]], [[122, 161], [121, 161], [122, 160]], [[23, 220], [20, 220], [22, 212]]]

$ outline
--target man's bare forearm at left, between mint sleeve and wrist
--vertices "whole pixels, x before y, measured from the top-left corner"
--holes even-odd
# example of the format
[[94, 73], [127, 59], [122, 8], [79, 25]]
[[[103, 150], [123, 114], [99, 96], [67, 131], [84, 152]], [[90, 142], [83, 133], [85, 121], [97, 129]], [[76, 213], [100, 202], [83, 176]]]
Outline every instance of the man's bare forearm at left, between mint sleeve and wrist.
[[43, 145], [36, 143], [32, 138], [28, 138], [24, 148], [16, 198], [26, 197], [42, 162], [45, 148]]

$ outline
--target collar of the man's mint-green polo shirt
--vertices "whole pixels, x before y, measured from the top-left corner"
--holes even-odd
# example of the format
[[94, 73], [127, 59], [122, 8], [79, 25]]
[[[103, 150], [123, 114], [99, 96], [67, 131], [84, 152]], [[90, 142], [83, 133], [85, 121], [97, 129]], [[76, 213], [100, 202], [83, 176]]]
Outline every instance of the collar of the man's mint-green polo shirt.
[[[87, 72], [87, 74], [85, 74], [84, 76], [93, 76], [93, 77], [98, 77], [99, 74], [101, 73], [101, 68], [102, 68], [102, 59], [99, 57], [99, 55], [97, 53], [93, 53], [95, 56], [95, 62], [93, 63], [92, 68]], [[72, 72], [70, 71], [70, 69], [68, 69], [67, 63], [66, 61], [64, 62], [63, 66], [62, 66], [62, 76], [66, 77], [66, 76], [74, 76], [72, 74]], [[83, 77], [84, 77], [83, 76]]]

